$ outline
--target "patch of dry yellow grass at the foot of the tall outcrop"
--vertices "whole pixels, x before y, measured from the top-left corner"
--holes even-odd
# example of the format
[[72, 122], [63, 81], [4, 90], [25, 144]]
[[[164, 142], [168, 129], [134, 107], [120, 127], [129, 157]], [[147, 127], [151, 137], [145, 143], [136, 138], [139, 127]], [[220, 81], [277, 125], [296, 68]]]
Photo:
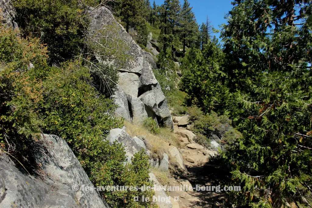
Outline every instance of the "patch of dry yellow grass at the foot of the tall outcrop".
[[147, 148], [151, 151], [151, 156], [153, 158], [162, 159], [163, 153], [167, 153], [170, 159], [170, 155], [168, 154], [168, 149], [173, 146], [179, 148], [180, 144], [178, 142], [178, 137], [168, 128], [160, 128], [159, 134], [152, 134], [143, 126], [136, 126], [128, 121], [124, 122], [124, 126], [126, 127], [127, 133], [130, 136], [142, 136], [146, 140], [150, 147]]

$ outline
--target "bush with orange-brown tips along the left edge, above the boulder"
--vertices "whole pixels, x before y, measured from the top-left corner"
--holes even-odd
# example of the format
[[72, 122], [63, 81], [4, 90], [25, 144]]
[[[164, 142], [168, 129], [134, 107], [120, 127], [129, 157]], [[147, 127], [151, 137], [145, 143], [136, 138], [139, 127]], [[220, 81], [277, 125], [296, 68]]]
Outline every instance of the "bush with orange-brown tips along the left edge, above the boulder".
[[31, 160], [31, 138], [41, 133], [42, 122], [34, 109], [42, 100], [42, 81], [22, 72], [29, 63], [45, 65], [46, 53], [38, 39], [22, 39], [18, 30], [0, 25], [0, 148], [9, 154], [19, 151], [16, 157], [25, 166]]

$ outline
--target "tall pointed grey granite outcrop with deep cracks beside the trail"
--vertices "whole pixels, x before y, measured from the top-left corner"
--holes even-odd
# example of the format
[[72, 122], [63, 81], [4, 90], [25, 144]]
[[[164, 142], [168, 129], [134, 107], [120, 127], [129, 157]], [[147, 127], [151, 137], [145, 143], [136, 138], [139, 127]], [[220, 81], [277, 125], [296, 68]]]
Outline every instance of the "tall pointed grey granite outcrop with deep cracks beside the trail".
[[[99, 30], [114, 25], [117, 27], [119, 40], [129, 46], [128, 51], [123, 51], [131, 57], [126, 58], [125, 64], [120, 65], [117, 60], [109, 62], [119, 70], [119, 87], [114, 95], [115, 103], [119, 105], [116, 115], [136, 124], [143, 123], [146, 117], [153, 117], [160, 125], [173, 129], [167, 100], [151, 68], [154, 65], [150, 64], [150, 54], [142, 51], [107, 8], [93, 9], [89, 15], [91, 20], [89, 35], [98, 34]], [[97, 56], [97, 59], [107, 63], [107, 60], [103, 60], [103, 56]], [[146, 92], [153, 94], [145, 97]], [[147, 100], [149, 98], [152, 100]]]

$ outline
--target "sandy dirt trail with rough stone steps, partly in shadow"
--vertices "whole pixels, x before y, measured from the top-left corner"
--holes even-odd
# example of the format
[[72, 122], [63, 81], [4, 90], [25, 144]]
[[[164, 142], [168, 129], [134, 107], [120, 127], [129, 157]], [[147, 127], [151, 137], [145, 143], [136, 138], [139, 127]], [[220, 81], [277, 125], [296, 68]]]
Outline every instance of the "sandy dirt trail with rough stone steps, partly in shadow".
[[[209, 165], [209, 158], [217, 154], [217, 151], [208, 150], [195, 143], [195, 134], [185, 128], [188, 125], [186, 117], [174, 117], [174, 133], [178, 134], [180, 152], [187, 172], [175, 171], [170, 180], [170, 186], [187, 185], [196, 188], [198, 186], [217, 186], [217, 167]], [[227, 197], [224, 193], [215, 191], [171, 191], [171, 197], [178, 199], [173, 203], [173, 208], [187, 207], [226, 207]]]

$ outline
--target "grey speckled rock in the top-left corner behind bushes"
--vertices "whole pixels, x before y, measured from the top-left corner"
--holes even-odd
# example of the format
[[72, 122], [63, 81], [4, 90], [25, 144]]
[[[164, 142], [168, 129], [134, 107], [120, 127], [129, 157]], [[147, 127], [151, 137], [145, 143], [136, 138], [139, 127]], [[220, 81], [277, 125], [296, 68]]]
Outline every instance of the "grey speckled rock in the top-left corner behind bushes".
[[16, 12], [13, 3], [10, 0], [0, 0], [0, 15], [2, 15], [2, 24], [8, 27], [17, 28], [17, 23], [14, 22]]

